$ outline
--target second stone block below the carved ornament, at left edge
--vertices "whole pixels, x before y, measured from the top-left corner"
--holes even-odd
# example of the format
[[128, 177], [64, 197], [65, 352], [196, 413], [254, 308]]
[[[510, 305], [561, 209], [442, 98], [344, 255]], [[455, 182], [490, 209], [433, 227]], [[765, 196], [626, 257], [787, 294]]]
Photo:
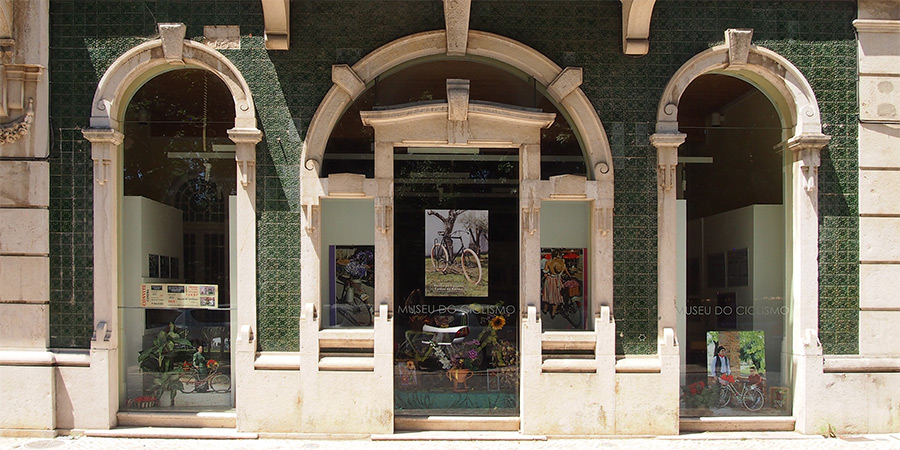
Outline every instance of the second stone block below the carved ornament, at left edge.
[[49, 221], [46, 209], [0, 209], [0, 254], [50, 253]]

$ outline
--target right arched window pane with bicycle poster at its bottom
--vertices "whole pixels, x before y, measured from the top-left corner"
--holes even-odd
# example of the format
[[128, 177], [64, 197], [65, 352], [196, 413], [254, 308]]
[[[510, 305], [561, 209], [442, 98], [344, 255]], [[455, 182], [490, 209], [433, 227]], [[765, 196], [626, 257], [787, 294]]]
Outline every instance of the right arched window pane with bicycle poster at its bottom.
[[682, 96], [678, 122], [687, 134], [677, 183], [687, 230], [681, 415], [788, 416], [780, 119], [754, 86], [705, 75]]

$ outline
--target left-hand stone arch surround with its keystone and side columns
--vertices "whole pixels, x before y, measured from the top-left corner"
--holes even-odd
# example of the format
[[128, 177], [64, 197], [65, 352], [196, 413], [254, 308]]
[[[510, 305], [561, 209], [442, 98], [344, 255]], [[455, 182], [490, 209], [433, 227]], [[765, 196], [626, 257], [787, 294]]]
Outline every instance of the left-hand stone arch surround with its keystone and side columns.
[[[256, 128], [256, 111], [250, 89], [237, 68], [221, 53], [184, 39], [184, 24], [160, 24], [160, 38], [125, 52], [107, 69], [91, 104], [90, 127], [82, 130], [91, 143], [93, 160], [93, 251], [94, 251], [94, 338], [91, 341], [91, 367], [98, 373], [115, 374], [119, 370], [119, 203], [122, 186], [122, 119], [134, 93], [150, 78], [183, 68], [207, 70], [228, 87], [235, 107], [234, 128], [228, 137], [235, 143], [236, 227], [240, 245], [235, 249], [236, 287], [240, 333], [235, 350], [255, 351], [252, 327], [256, 326], [256, 144], [262, 132]], [[248, 376], [247, 368], [241, 366]], [[252, 367], [249, 369], [252, 371]], [[119, 403], [119, 383], [104, 375], [107, 391], [98, 399], [97, 423], [115, 424]]]

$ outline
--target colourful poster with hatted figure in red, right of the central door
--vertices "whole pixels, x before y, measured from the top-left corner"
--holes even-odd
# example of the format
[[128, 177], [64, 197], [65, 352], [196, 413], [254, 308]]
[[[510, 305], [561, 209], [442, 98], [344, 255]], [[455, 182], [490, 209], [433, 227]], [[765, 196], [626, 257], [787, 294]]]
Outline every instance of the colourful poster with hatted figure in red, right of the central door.
[[583, 248], [541, 249], [544, 329], [587, 329], [587, 258]]

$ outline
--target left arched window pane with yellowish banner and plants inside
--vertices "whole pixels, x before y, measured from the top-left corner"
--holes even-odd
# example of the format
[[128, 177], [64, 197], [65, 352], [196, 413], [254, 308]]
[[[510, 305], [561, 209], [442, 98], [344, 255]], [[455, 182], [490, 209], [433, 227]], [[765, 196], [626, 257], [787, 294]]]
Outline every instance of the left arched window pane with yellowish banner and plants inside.
[[124, 125], [123, 407], [230, 408], [232, 96], [207, 71], [165, 72]]

